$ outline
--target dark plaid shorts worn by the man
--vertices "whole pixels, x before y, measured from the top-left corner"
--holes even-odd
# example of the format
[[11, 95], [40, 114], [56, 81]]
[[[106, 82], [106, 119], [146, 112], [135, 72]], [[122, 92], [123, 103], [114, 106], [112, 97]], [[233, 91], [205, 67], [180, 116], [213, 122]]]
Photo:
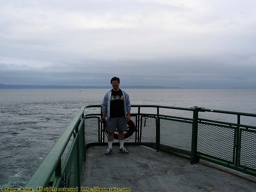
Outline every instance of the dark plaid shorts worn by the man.
[[106, 131], [113, 133], [117, 131], [126, 131], [127, 122], [124, 116], [121, 117], [112, 117], [106, 121]]

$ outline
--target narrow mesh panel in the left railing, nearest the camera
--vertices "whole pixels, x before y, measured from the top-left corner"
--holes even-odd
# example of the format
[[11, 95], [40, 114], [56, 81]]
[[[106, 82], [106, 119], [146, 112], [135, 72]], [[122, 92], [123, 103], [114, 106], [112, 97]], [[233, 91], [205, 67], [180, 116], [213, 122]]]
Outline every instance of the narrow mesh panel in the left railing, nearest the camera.
[[[77, 140], [76, 140], [77, 142]], [[74, 148], [70, 151], [71, 156], [68, 162], [68, 166], [65, 170], [66, 187], [75, 188], [78, 185], [77, 174], [77, 143], [74, 142]]]

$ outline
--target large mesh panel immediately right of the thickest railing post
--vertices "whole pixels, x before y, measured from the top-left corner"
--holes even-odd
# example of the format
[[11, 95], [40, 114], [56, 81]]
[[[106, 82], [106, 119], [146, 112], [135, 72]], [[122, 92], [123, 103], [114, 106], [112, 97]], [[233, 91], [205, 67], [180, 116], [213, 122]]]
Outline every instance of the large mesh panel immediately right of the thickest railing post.
[[234, 164], [236, 127], [198, 123], [197, 151]]

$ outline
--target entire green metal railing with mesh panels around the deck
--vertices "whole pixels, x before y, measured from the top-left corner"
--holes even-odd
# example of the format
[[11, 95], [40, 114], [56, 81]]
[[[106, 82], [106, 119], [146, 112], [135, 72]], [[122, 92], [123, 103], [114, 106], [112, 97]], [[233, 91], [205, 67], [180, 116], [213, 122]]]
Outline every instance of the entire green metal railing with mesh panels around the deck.
[[[240, 124], [241, 116], [256, 114], [205, 108], [179, 108], [157, 105], [132, 105], [136, 131], [125, 142], [145, 145], [187, 158], [191, 164], [199, 159], [211, 161], [256, 176], [256, 127]], [[85, 108], [98, 108], [97, 114], [84, 115]], [[141, 113], [141, 108], [156, 108], [156, 114]], [[159, 109], [176, 109], [191, 113], [191, 118], [163, 115]], [[236, 123], [198, 118], [199, 112], [232, 114]], [[91, 145], [106, 144], [107, 136], [100, 124], [100, 105], [83, 106], [43, 162], [26, 184], [26, 188], [80, 188], [85, 150]], [[73, 139], [72, 139], [73, 135]], [[70, 145], [68, 145], [68, 143]], [[114, 140], [118, 142], [118, 140]], [[69, 146], [69, 147], [67, 147]], [[67, 154], [61, 157], [65, 149]], [[78, 190], [79, 191], [79, 190]]]

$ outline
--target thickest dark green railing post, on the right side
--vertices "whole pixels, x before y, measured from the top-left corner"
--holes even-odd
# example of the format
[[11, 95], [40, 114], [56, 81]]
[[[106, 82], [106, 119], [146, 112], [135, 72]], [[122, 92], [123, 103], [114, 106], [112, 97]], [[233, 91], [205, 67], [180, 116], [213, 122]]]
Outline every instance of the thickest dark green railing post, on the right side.
[[196, 155], [197, 151], [197, 130], [198, 130], [198, 112], [200, 108], [195, 107], [193, 111], [193, 125], [192, 125], [192, 141], [191, 141], [191, 162], [190, 164], [195, 164], [199, 161]]

